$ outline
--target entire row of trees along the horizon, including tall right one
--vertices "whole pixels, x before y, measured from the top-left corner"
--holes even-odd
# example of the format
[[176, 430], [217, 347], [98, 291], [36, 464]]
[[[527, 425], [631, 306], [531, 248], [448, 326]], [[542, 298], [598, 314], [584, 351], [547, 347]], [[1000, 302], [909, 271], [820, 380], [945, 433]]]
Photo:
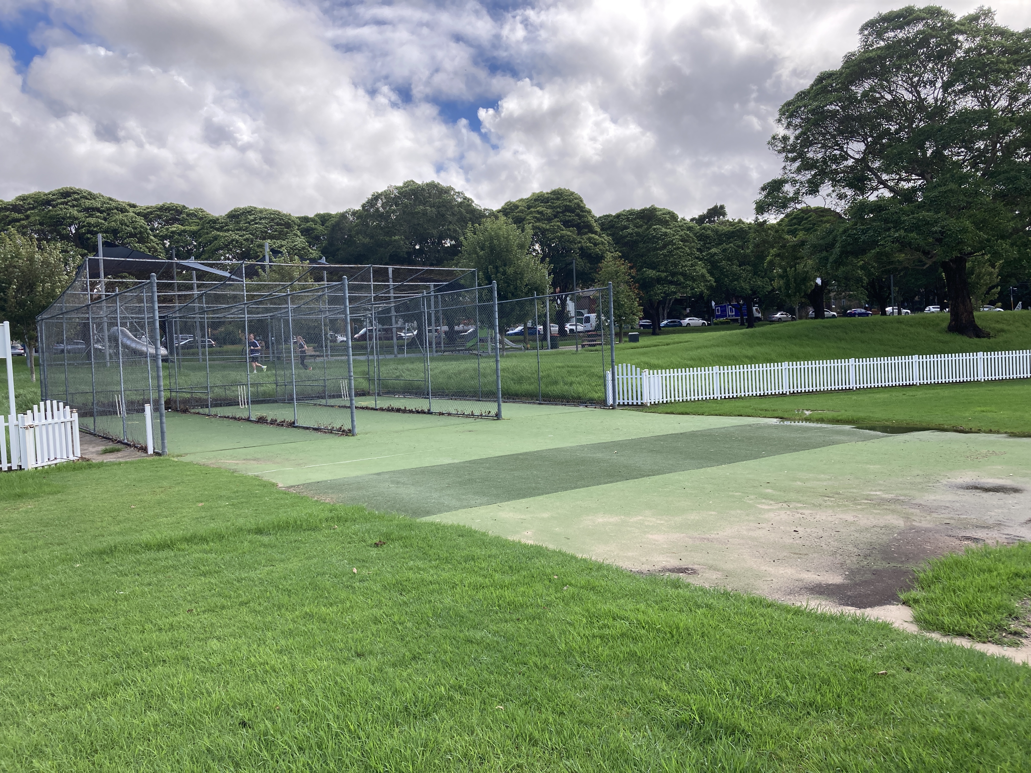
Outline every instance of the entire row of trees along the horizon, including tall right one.
[[884, 311], [894, 287], [910, 303], [947, 297], [950, 330], [980, 336], [973, 308], [1029, 275], [1029, 75], [1031, 33], [989, 10], [877, 15], [840, 68], [781, 107], [770, 145], [784, 168], [750, 222], [719, 204], [691, 219], [655, 206], [595, 216], [566, 189], [492, 211], [408, 180], [310, 216], [66, 188], [0, 202], [0, 232], [72, 256], [103, 233], [168, 258], [257, 260], [268, 242], [279, 260], [468, 266], [502, 298], [612, 281], [621, 321], [643, 313], [656, 333], [674, 305], [756, 301], [822, 317], [828, 294]]

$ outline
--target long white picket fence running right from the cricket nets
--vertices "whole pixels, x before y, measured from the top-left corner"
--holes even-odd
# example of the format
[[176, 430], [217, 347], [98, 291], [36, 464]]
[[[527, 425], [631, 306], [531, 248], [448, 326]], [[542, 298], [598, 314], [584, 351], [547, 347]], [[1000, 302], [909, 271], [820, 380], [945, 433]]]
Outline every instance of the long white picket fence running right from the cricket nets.
[[[926, 383], [1031, 378], [1031, 349], [961, 355], [912, 355], [805, 363], [716, 365], [709, 368], [641, 370], [616, 366], [616, 404], [652, 405], [689, 400], [793, 395], [803, 392], [912, 386]], [[612, 375], [605, 398], [612, 404]]]

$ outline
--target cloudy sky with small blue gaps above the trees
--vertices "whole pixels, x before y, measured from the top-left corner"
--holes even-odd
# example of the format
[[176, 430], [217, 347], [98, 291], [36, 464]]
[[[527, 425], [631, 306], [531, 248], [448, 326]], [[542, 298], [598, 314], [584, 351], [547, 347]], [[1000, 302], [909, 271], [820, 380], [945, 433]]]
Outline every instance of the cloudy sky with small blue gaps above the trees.
[[[777, 107], [902, 4], [0, 0], [0, 199], [305, 214], [436, 179], [747, 217]], [[1031, 1], [992, 5], [1031, 26]]]

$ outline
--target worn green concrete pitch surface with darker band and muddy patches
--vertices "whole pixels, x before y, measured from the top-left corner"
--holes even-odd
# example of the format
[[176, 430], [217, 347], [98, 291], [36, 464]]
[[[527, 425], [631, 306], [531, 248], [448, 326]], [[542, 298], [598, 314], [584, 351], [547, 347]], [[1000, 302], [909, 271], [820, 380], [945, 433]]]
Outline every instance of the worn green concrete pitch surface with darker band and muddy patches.
[[791, 603], [892, 604], [911, 568], [1031, 538], [1031, 439], [505, 405], [361, 411], [356, 438], [169, 416], [182, 459]]

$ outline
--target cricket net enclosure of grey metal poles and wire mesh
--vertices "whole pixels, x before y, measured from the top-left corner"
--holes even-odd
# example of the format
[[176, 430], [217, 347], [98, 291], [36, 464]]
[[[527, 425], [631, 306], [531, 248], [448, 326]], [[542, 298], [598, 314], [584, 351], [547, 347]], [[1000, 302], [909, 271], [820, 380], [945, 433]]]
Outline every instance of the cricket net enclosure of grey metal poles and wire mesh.
[[500, 416], [505, 400], [605, 402], [607, 288], [498, 303], [462, 269], [194, 269], [106, 288], [76, 277], [39, 318], [45, 396], [140, 445], [145, 404], [351, 433], [356, 408]]

